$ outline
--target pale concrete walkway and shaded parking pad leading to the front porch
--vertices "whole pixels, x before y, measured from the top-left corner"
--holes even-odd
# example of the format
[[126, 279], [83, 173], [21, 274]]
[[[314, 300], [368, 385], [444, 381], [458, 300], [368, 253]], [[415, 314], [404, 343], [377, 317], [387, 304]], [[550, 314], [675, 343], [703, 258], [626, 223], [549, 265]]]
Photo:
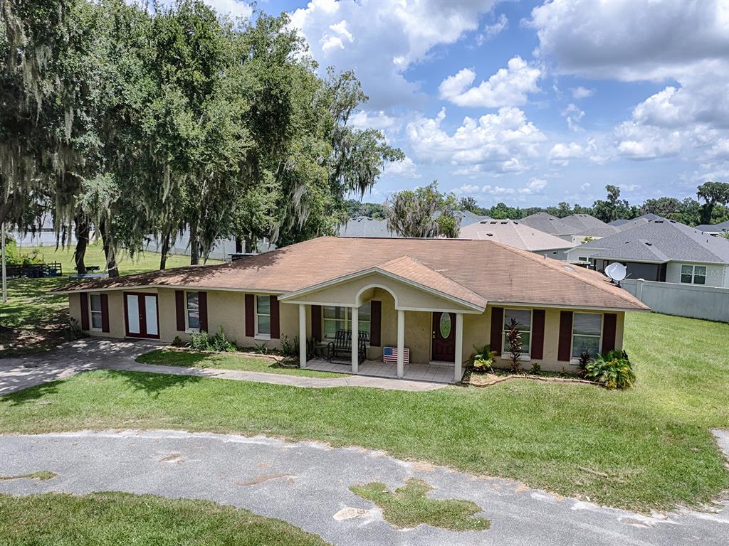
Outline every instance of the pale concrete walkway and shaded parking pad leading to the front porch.
[[234, 381], [255, 381], [322, 389], [331, 387], [373, 387], [375, 389], [421, 392], [446, 387], [442, 383], [407, 381], [371, 376], [332, 378], [286, 375], [256, 371], [219, 370], [214, 368], [180, 368], [141, 364], [136, 357], [163, 347], [158, 341], [85, 338], [64, 344], [59, 349], [22, 358], [0, 359], [0, 395], [55, 381], [90, 370], [141, 371], [179, 376], [211, 377]]

